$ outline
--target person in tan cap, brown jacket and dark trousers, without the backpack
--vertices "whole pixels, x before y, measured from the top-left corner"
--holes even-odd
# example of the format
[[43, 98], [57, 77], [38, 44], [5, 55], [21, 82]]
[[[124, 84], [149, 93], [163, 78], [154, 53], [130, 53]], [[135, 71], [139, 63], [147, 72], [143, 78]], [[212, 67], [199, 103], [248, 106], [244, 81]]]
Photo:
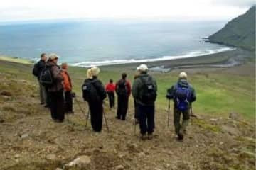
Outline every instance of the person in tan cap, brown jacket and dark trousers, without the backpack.
[[63, 76], [60, 73], [58, 63], [58, 55], [50, 54], [46, 62], [46, 69], [50, 70], [53, 84], [48, 86], [50, 96], [50, 114], [55, 122], [62, 123], [64, 115], [64, 96], [63, 96]]

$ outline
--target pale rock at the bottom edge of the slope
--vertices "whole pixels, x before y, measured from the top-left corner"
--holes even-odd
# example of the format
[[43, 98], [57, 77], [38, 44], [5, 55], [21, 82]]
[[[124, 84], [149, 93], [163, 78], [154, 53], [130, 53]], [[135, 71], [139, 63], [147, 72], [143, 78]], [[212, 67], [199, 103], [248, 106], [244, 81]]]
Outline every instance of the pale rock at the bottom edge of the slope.
[[89, 169], [89, 165], [91, 163], [90, 157], [87, 155], [82, 155], [80, 157], [77, 157], [75, 160], [72, 162], [65, 164], [64, 169], [72, 169], [73, 167], [79, 168], [79, 169]]

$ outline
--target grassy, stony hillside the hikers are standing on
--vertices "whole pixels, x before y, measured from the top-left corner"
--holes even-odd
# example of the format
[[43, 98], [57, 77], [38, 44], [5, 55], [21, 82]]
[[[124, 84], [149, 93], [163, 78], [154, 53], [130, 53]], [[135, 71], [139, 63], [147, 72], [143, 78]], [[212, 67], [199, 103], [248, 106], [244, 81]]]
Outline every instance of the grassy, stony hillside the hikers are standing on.
[[[255, 169], [255, 64], [239, 67], [186, 69], [198, 92], [194, 112], [198, 118], [187, 129], [183, 142], [176, 140], [173, 119], [167, 123], [166, 89], [176, 81], [179, 70], [151, 72], [159, 84], [154, 139], [139, 140], [134, 133], [134, 107], [130, 99], [125, 122], [116, 120], [115, 110], [107, 111], [110, 132], [85, 127], [85, 115], [74, 103], [74, 115], [64, 123], [54, 123], [48, 109], [39, 105], [38, 82], [31, 64], [0, 60], [0, 169], [63, 168], [83, 155], [89, 158], [87, 170], [181, 170]], [[101, 67], [100, 79], [117, 80], [120, 70], [132, 79], [134, 67]], [[86, 69], [70, 67], [74, 91], [82, 101], [80, 86]], [[228, 118], [235, 113], [233, 118]], [[172, 111], [171, 111], [172, 115]], [[65, 167], [64, 169], [69, 169]], [[79, 169], [79, 168], [70, 168]]]

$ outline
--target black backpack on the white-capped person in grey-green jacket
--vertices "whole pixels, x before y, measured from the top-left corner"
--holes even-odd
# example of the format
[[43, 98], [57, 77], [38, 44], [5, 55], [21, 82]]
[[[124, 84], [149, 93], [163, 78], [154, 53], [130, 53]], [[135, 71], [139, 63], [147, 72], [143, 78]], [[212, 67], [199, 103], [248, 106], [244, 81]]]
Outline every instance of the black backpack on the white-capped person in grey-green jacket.
[[144, 79], [143, 77], [139, 78], [142, 81], [142, 90], [139, 91], [139, 100], [146, 105], [152, 105], [156, 101], [156, 86], [154, 86], [152, 77]]

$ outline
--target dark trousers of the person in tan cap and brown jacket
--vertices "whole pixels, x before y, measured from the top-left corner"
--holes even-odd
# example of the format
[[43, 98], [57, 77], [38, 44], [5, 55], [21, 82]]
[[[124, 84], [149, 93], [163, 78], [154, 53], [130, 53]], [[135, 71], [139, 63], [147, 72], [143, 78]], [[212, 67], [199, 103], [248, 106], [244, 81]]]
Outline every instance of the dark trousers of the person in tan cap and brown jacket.
[[64, 120], [64, 96], [63, 91], [49, 92], [50, 95], [50, 115], [53, 120]]

